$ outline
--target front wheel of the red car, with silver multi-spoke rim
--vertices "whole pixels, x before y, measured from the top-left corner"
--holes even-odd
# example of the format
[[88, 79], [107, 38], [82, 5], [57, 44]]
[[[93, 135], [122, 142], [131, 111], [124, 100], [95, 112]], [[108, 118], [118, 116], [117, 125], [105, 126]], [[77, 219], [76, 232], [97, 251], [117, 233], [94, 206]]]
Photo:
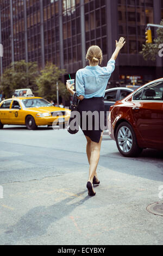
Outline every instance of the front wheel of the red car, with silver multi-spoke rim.
[[137, 144], [133, 127], [127, 122], [123, 122], [118, 125], [115, 139], [117, 148], [123, 156], [139, 156], [143, 150]]

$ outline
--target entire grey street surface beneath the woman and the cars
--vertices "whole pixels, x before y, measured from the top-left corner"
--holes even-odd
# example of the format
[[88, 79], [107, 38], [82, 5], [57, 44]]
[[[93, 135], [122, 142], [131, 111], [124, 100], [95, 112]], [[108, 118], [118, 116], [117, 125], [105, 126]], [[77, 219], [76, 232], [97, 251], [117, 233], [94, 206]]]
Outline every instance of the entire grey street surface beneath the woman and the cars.
[[163, 245], [163, 216], [146, 210], [163, 200], [162, 151], [127, 159], [105, 133], [89, 197], [82, 131], [4, 126], [0, 145], [0, 245]]

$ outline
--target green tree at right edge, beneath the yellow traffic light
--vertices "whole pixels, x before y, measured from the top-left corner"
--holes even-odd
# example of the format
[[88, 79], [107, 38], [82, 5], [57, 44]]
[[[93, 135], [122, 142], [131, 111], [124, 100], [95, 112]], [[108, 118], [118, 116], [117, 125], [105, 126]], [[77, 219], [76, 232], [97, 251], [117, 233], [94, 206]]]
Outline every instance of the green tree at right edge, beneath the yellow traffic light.
[[[163, 20], [160, 25], [163, 25]], [[140, 53], [145, 60], [155, 60], [160, 51], [159, 45], [163, 44], [163, 28], [158, 28], [156, 33], [158, 36], [154, 39], [153, 44], [142, 45], [142, 51]]]

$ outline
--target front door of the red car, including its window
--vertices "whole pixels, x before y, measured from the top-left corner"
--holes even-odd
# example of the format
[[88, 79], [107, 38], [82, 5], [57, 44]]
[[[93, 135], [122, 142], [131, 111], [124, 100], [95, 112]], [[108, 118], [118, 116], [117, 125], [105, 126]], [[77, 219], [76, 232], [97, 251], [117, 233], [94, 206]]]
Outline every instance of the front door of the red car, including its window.
[[[139, 93], [137, 93], [138, 95]], [[134, 123], [147, 147], [163, 148], [163, 81], [143, 88], [131, 108]]]

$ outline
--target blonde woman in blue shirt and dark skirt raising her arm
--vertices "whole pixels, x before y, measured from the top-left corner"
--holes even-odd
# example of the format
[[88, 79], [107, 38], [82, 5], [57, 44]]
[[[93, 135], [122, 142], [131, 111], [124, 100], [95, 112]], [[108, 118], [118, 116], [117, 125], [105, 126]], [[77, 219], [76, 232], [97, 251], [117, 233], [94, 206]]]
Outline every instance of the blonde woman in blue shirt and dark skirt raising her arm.
[[[120, 38], [117, 42], [116, 40], [116, 50], [112, 54], [106, 67], [101, 68], [98, 64], [102, 62], [102, 50], [96, 45], [89, 48], [86, 54], [86, 59], [89, 61], [89, 66], [84, 69], [80, 69], [76, 73], [76, 93], [78, 96], [79, 105], [78, 111], [80, 113], [80, 127], [86, 137], [86, 154], [89, 161], [89, 179], [87, 181], [87, 190], [89, 196], [95, 196], [95, 191], [93, 190], [93, 185], [99, 185], [99, 180], [97, 178], [97, 165], [99, 162], [101, 142], [103, 136], [103, 126], [98, 124], [97, 129], [97, 119], [96, 121], [92, 118], [92, 126], [89, 129], [89, 119], [86, 119], [86, 124], [84, 123], [84, 113], [93, 112], [98, 113], [98, 122], [101, 121], [101, 113], [104, 113], [104, 95], [105, 89], [108, 84], [109, 78], [115, 69], [115, 60], [120, 52], [121, 48], [125, 44], [124, 38]], [[74, 90], [71, 89], [72, 84], [66, 83], [68, 92], [74, 95]], [[101, 122], [99, 122], [101, 123]], [[96, 129], [95, 129], [96, 128]]]

